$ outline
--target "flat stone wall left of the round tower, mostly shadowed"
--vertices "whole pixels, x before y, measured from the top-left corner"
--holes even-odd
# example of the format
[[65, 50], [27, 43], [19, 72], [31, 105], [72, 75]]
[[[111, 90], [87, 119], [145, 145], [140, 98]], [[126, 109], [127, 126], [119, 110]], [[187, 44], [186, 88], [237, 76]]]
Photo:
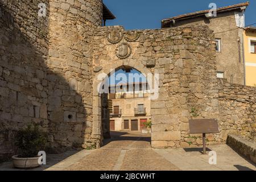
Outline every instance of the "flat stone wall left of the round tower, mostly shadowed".
[[14, 133], [28, 123], [48, 131], [48, 18], [38, 18], [39, 2], [0, 1], [0, 155], [14, 152]]

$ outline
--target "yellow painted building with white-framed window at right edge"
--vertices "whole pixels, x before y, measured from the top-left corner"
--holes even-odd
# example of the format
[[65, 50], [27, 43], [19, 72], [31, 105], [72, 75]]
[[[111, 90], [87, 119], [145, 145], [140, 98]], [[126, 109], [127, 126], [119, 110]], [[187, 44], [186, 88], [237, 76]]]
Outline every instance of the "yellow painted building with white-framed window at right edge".
[[243, 38], [246, 85], [256, 86], [256, 27], [245, 28]]

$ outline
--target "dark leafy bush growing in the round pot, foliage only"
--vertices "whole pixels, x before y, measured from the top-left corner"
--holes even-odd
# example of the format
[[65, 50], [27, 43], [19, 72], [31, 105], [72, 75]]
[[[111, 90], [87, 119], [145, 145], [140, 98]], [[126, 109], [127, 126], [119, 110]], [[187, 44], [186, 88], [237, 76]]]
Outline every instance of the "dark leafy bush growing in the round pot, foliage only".
[[35, 157], [39, 151], [46, 148], [46, 133], [40, 131], [38, 125], [28, 125], [26, 129], [19, 130], [15, 139], [22, 158]]

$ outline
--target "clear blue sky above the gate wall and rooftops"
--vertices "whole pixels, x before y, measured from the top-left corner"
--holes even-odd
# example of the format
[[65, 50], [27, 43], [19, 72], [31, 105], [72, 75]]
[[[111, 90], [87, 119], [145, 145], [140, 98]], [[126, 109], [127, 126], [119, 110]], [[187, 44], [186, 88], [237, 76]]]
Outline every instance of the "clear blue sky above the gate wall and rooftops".
[[[207, 10], [212, 2], [217, 7], [223, 7], [246, 0], [104, 0], [105, 5], [117, 17], [115, 20], [108, 20], [106, 25], [121, 25], [126, 30], [160, 28], [162, 19]], [[256, 1], [251, 0], [246, 9], [246, 25], [256, 23], [255, 12]]]

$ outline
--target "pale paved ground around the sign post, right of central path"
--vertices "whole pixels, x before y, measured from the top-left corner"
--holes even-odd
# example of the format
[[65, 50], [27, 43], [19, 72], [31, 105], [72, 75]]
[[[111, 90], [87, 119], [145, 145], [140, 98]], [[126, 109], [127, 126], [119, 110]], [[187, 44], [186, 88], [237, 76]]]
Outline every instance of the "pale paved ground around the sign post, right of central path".
[[256, 166], [238, 155], [226, 144], [208, 146], [217, 154], [217, 164], [209, 164], [209, 155], [201, 154], [201, 148], [155, 149], [159, 155], [182, 171], [255, 171]]

